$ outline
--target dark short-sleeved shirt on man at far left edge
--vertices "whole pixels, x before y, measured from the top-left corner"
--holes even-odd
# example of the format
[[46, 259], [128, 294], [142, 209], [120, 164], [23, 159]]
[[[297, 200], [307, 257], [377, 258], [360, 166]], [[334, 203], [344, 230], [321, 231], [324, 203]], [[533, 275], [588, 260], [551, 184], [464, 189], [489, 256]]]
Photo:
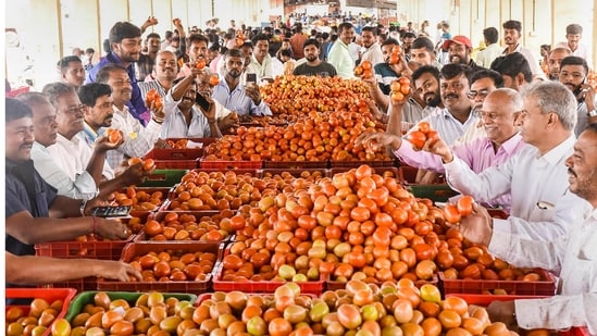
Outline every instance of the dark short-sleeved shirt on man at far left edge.
[[[5, 217], [28, 211], [34, 217], [50, 216], [50, 204], [57, 190], [39, 176], [33, 160], [15, 163], [7, 159]], [[7, 251], [15, 256], [34, 256], [33, 245], [5, 235]]]

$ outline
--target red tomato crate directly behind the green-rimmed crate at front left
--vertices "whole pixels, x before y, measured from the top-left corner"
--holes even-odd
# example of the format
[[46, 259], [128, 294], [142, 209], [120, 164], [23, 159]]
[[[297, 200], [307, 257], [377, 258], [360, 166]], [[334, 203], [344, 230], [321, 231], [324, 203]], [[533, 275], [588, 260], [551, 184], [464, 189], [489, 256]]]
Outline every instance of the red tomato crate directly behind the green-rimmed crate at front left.
[[[165, 241], [142, 241], [132, 242], [122, 251], [121, 261], [129, 263], [135, 257], [144, 256], [148, 252], [174, 251], [177, 253], [195, 253], [195, 252], [211, 252], [217, 256], [213, 270], [217, 266], [217, 261], [222, 259], [222, 250], [220, 242], [165, 242]], [[163, 293], [190, 293], [201, 294], [209, 291], [211, 288], [211, 279], [213, 270], [207, 274], [206, 281], [184, 281], [184, 282], [115, 282], [103, 278], [98, 279], [98, 290], [117, 290], [117, 291], [163, 291]]]

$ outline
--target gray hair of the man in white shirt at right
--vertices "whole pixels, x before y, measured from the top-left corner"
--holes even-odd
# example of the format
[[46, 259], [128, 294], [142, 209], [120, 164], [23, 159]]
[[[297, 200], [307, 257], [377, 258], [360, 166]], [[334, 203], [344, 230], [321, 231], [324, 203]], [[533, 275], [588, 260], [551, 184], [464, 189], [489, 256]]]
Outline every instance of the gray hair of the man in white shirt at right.
[[555, 80], [533, 83], [526, 85], [521, 95], [523, 98], [537, 99], [543, 114], [554, 112], [565, 129], [574, 129], [577, 120], [576, 98], [563, 84]]

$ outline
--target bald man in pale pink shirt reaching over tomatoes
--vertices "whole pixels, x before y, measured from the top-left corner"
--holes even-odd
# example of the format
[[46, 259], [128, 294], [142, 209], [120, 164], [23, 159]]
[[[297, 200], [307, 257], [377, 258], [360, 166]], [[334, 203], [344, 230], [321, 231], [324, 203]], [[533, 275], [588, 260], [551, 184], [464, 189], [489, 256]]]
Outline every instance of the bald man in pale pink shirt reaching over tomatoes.
[[[448, 147], [439, 140], [434, 145], [437, 155], [425, 151], [414, 151], [411, 144], [405, 144], [402, 138], [394, 134], [377, 134], [361, 136], [359, 141], [368, 144], [375, 140], [377, 146], [390, 146], [400, 162], [436, 173], [444, 173], [443, 162], [449, 162], [458, 157], [473, 172], [481, 173], [489, 166], [497, 166], [517, 154], [526, 146], [518, 134], [514, 120], [522, 109], [522, 98], [517, 91], [508, 88], [496, 89], [483, 102], [481, 123], [487, 136], [469, 144]], [[501, 206], [508, 212], [511, 197], [501, 195], [487, 201], [492, 207]]]

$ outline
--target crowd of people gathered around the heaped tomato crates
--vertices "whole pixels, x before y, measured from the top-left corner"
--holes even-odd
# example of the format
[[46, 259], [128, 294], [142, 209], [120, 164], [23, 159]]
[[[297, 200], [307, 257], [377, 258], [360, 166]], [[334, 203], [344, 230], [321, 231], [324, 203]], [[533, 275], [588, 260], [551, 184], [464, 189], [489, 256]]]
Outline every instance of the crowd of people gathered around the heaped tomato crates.
[[[241, 117], [272, 115], [259, 86], [276, 76], [339, 76], [365, 82], [372, 115], [387, 125], [358, 142], [420, 167], [419, 183], [441, 177], [473, 196], [478, 206], [459, 226], [467, 238], [559, 276], [556, 297], [495, 303], [492, 316], [525, 328], [587, 326], [597, 334], [597, 111], [582, 27], [567, 27], [567, 41], [545, 55], [542, 69], [520, 43], [522, 23], [513, 20], [502, 24], [503, 46], [496, 27], [485, 28], [482, 50], [452, 36], [446, 22], [435, 39], [428, 22], [419, 32], [412, 23], [357, 30], [350, 20], [306, 32], [303, 22], [252, 29], [233, 21], [219, 35], [185, 32], [175, 20], [163, 40], [144, 36], [156, 17], [140, 27], [119, 22], [99, 63], [90, 65], [92, 50], [65, 57], [59, 82], [7, 98], [7, 263], [15, 269], [8, 282], [29, 283], [14, 263], [32, 262], [16, 256], [33, 254], [33, 244], [91, 232], [129, 235], [120, 223], [88, 216], [112, 191], [144, 179], [147, 172], [127, 165], [128, 158], [144, 157], [160, 139], [222, 137]], [[374, 76], [356, 76], [365, 61]], [[390, 85], [400, 77], [412, 90], [393, 100]], [[150, 90], [160, 103], [148, 103]], [[439, 138], [414, 150], [403, 134], [421, 121]], [[121, 138], [109, 141], [107, 128]], [[482, 206], [510, 216], [492, 219]], [[139, 276], [119, 262], [97, 264], [102, 276]], [[69, 276], [86, 275], [80, 272]]]

